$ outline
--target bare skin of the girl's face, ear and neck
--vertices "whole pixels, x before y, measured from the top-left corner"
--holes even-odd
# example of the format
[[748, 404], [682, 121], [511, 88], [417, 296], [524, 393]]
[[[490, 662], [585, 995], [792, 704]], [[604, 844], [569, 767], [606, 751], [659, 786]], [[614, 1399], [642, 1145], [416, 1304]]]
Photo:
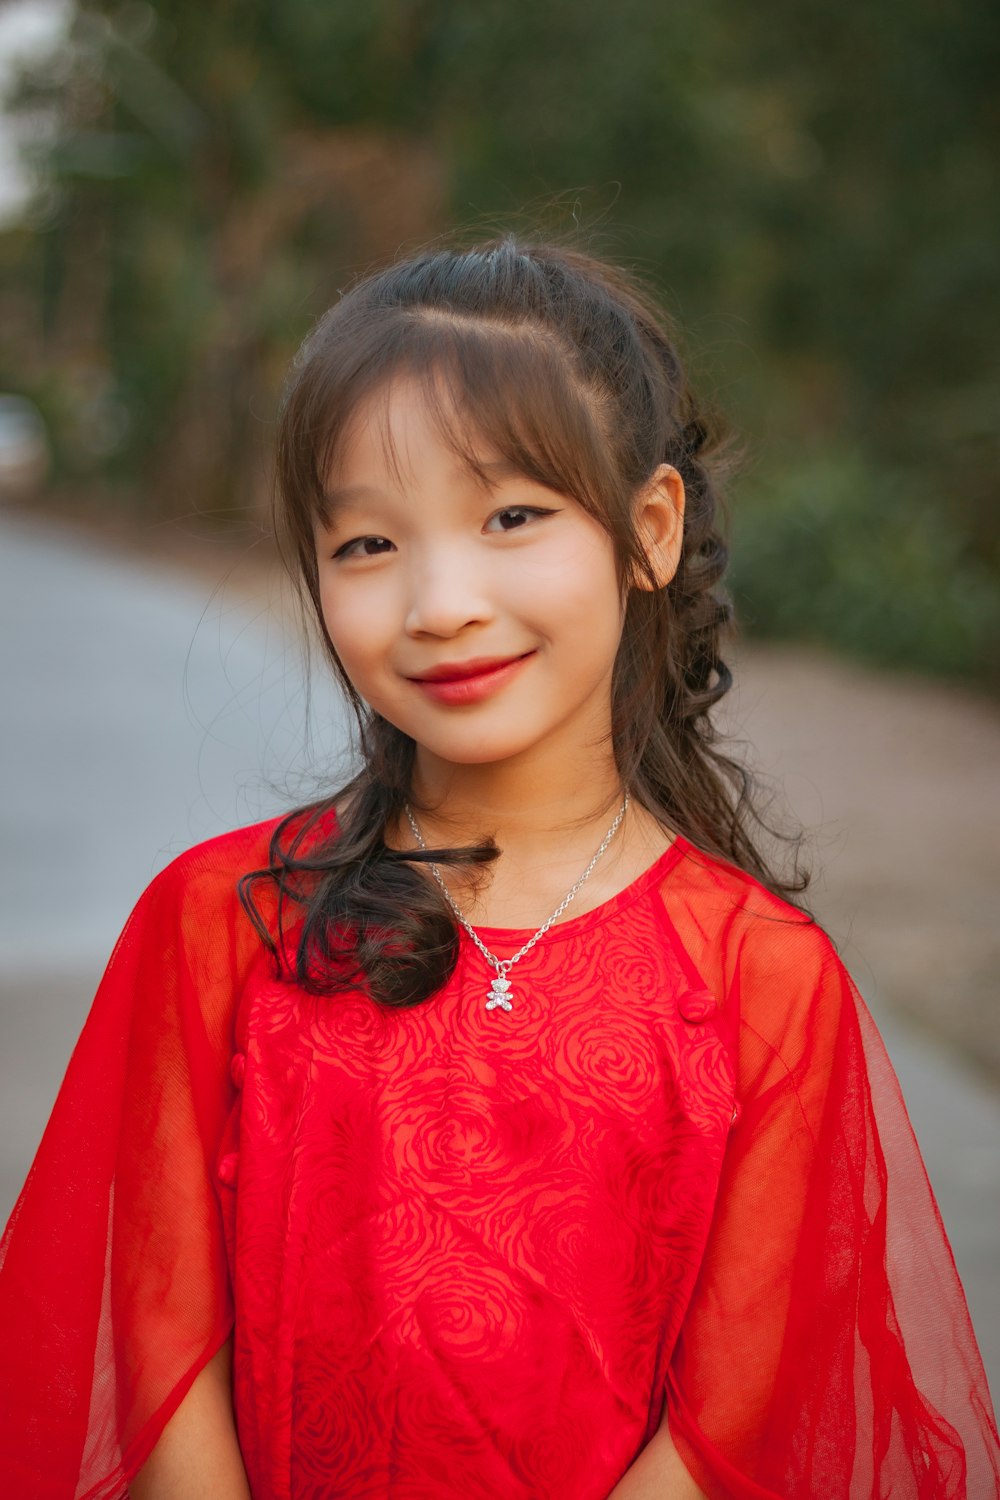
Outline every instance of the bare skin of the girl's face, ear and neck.
[[[547, 915], [547, 892], [573, 884], [621, 802], [609, 730], [624, 606], [604, 528], [571, 496], [510, 472], [486, 442], [477, 458], [489, 488], [444, 441], [417, 381], [363, 406], [328, 474], [319, 591], [351, 682], [417, 742], [427, 837], [492, 832], [504, 855], [489, 921], [528, 927]], [[676, 470], [661, 465], [636, 506], [666, 582], [684, 514]], [[519, 657], [496, 686], [445, 688], [447, 700], [414, 681], [444, 664]], [[589, 903], [667, 843], [630, 808]]]

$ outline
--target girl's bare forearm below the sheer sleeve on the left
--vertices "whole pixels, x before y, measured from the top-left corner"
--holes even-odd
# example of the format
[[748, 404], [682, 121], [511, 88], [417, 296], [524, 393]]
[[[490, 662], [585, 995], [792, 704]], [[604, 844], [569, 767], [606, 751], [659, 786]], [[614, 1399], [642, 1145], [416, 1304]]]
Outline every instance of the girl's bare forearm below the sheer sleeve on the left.
[[130, 1480], [130, 1500], [250, 1500], [231, 1390], [232, 1340], [228, 1340], [198, 1374]]

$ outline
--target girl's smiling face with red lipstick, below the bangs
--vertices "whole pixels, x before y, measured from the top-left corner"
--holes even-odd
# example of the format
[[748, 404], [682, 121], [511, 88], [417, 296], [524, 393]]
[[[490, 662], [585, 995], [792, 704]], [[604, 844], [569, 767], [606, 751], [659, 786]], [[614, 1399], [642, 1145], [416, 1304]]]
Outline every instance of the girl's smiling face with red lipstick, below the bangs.
[[477, 458], [489, 489], [442, 440], [418, 381], [358, 411], [316, 524], [330, 642], [424, 756], [489, 765], [595, 744], [622, 632], [612, 540], [486, 444]]

